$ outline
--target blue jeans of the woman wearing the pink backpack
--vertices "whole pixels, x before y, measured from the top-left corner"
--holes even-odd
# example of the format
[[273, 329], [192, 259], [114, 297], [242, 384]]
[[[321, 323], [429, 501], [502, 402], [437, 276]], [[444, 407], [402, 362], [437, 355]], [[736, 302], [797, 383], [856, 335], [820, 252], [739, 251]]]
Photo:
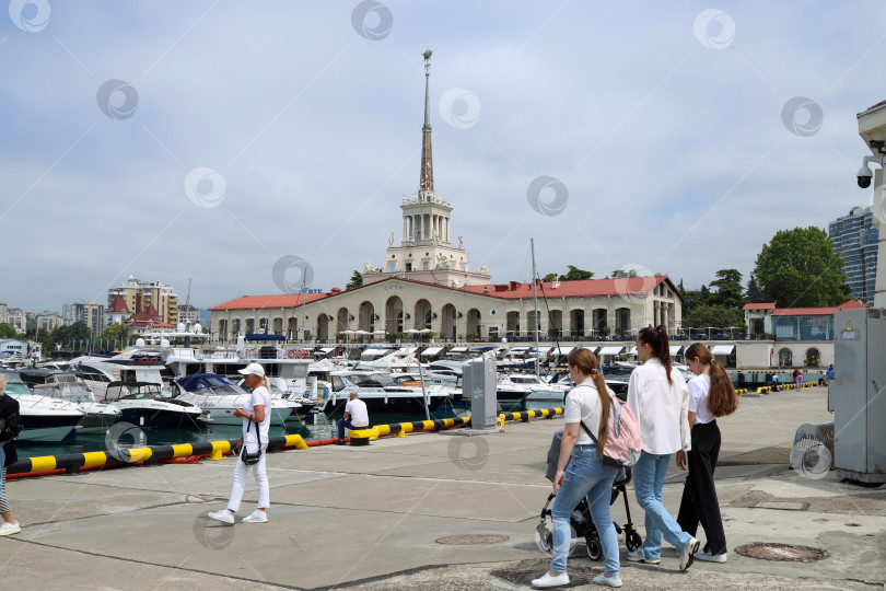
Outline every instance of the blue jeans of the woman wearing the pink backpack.
[[613, 480], [618, 468], [601, 462], [596, 445], [575, 445], [569, 457], [563, 485], [557, 490], [550, 519], [553, 523], [553, 559], [550, 569], [553, 572], [566, 572], [572, 529], [569, 518], [582, 497], [587, 496], [591, 517], [599, 534], [603, 546], [606, 576], [618, 575], [618, 534], [609, 517], [609, 500], [613, 494]]

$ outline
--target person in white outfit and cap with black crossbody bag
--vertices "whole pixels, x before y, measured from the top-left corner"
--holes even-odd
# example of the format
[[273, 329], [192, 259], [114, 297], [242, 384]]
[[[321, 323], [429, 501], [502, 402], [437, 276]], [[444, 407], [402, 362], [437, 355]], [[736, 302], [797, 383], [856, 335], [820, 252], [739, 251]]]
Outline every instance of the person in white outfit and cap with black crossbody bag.
[[246, 445], [247, 453], [255, 453], [258, 449], [258, 433], [261, 436], [261, 457], [257, 464], [252, 466], [253, 476], [258, 485], [258, 508], [254, 513], [243, 518], [243, 523], [265, 523], [268, 521], [266, 509], [270, 505], [270, 491], [268, 489], [268, 474], [265, 470], [266, 450], [268, 447], [268, 432], [270, 430], [270, 390], [268, 379], [265, 376], [265, 369], [258, 363], [249, 363], [240, 370], [244, 375], [246, 385], [253, 389], [249, 401], [234, 410], [235, 417], [243, 417], [243, 437], [240, 438], [234, 452], [237, 454], [237, 464], [234, 467], [234, 486], [231, 489], [231, 499], [228, 501], [228, 509], [209, 513], [210, 519], [234, 523], [234, 514], [240, 509], [243, 500], [243, 490], [246, 485], [246, 473], [249, 466], [243, 463], [240, 452]]

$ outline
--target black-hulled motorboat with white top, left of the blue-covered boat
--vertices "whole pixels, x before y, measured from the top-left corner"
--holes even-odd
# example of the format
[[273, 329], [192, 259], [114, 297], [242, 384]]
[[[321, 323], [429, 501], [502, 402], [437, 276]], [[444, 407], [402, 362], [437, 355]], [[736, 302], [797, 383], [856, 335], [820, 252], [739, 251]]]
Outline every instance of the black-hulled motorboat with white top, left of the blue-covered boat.
[[202, 408], [168, 398], [153, 382], [110, 382], [102, 402], [120, 409], [120, 421], [142, 428], [202, 429], [209, 420]]

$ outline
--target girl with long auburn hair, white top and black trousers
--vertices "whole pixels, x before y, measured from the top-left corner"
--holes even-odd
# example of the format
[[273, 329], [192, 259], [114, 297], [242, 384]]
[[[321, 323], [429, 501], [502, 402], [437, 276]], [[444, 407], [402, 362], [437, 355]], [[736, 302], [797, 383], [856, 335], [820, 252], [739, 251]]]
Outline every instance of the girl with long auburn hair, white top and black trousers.
[[[689, 475], [683, 488], [677, 523], [684, 531], [696, 535], [698, 524], [704, 528], [708, 543], [696, 553], [696, 558], [708, 563], [726, 561], [726, 534], [720, 517], [713, 472], [720, 454], [719, 417], [735, 413], [738, 398], [726, 370], [715, 361], [711, 350], [696, 343], [686, 350], [686, 362], [696, 374], [689, 381], [689, 427], [692, 449], [689, 450]], [[677, 452], [677, 463], [685, 463]]]

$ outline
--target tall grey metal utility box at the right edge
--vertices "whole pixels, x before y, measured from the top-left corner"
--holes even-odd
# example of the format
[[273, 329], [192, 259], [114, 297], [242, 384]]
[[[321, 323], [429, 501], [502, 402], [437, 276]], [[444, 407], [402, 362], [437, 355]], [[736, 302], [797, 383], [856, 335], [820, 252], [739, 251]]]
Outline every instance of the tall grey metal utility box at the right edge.
[[886, 309], [833, 314], [833, 466], [843, 478], [886, 483]]

